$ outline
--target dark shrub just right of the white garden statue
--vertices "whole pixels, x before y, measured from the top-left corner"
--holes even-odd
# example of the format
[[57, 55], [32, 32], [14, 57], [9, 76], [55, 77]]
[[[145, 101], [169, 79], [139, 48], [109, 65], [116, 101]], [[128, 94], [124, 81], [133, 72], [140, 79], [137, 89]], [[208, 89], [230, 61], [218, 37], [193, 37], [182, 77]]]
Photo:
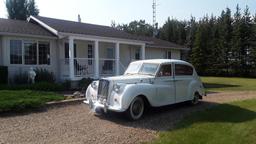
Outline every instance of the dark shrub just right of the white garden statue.
[[43, 69], [43, 68], [37, 68], [35, 72], [36, 72], [35, 82], [49, 82], [49, 83], [55, 82], [55, 76], [53, 72], [49, 72], [47, 69]]

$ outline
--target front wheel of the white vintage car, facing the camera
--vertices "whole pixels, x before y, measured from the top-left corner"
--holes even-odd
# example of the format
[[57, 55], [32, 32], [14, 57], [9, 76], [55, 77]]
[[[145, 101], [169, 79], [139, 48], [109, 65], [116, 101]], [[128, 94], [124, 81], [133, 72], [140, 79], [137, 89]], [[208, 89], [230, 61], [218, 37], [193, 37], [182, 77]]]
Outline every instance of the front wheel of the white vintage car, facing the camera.
[[126, 114], [130, 120], [138, 120], [144, 112], [144, 101], [141, 97], [135, 97], [127, 109]]

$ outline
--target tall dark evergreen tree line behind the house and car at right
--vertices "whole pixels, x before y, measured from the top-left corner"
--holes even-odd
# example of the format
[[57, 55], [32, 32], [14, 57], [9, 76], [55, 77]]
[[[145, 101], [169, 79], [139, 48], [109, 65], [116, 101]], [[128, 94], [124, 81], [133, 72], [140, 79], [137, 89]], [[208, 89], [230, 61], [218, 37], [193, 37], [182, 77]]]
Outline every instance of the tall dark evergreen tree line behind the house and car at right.
[[[145, 21], [112, 25], [129, 33], [152, 36]], [[141, 28], [140, 28], [141, 27]], [[168, 18], [157, 37], [190, 49], [188, 61], [200, 75], [256, 77], [256, 15], [246, 6], [229, 8], [220, 16], [204, 16], [196, 21]]]

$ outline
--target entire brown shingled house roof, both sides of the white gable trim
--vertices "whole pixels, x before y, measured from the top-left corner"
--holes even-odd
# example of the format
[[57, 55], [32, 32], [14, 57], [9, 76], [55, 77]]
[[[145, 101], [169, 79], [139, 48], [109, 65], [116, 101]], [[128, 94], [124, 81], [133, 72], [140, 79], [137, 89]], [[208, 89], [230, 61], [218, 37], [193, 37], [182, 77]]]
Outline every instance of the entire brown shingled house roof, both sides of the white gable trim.
[[38, 23], [38, 21], [21, 21], [0, 18], [0, 34], [4, 33], [13, 35], [20, 34], [56, 37], [57, 33], [54, 33], [52, 31], [54, 30], [63, 33], [138, 40], [145, 42], [146, 47], [187, 49], [184, 46], [177, 45], [169, 41], [164, 41], [152, 37], [137, 36], [109, 26], [80, 23], [41, 16], [35, 16], [34, 18], [39, 22], [44, 23], [47, 26], [47, 28], [42, 26], [42, 23]]

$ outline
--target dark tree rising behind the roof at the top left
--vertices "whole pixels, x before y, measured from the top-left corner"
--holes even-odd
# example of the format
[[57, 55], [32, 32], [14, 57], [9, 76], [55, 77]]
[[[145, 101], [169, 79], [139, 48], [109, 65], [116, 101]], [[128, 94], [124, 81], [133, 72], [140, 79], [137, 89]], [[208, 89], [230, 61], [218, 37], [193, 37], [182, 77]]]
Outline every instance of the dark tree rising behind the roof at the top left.
[[34, 0], [6, 0], [9, 19], [26, 20], [30, 15], [38, 15]]

